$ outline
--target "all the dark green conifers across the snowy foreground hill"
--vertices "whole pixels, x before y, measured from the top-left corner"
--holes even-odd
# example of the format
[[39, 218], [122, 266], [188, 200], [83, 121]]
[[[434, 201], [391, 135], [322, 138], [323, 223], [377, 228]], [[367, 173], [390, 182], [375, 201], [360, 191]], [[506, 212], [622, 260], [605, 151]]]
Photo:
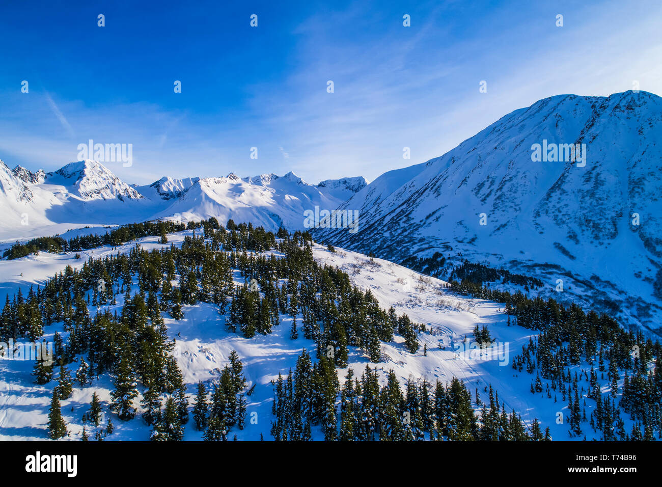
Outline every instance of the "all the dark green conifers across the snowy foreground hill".
[[[410, 380], [403, 394], [393, 371], [380, 387], [377, 371], [367, 367], [361, 378], [348, 372], [340, 386], [336, 368], [347, 366], [350, 347], [379, 362], [381, 343], [392, 342], [397, 333], [404, 337], [404, 348], [416, 353], [417, 332], [424, 331], [424, 325], [398, 316], [393, 308], [382, 309], [371, 292], [352, 285], [345, 272], [315, 262], [308, 233], [291, 235], [281, 229], [274, 234], [232, 220], [224, 228], [215, 219], [188, 227], [195, 232], [181, 247], [146, 250], [136, 244], [126, 253], [89, 258], [80, 269], [68, 266], [44, 286], [30, 288], [27, 296], [19, 290], [5, 299], [0, 313], [5, 343], [10, 337], [36, 342], [45, 327], [63, 323], [64, 333], [54, 334], [54, 364], [37, 362], [34, 370], [38, 384], [55, 380], [54, 366], [60, 370], [49, 413], [51, 437], [67, 434], [60, 401], [70, 397], [71, 388], [87, 386], [109, 372], [114, 383], [110, 410], [119, 419], [136, 416], [142, 394], [140, 410], [152, 427], [151, 438], [182, 439], [189, 398], [162, 316], [181, 319], [186, 305], [204, 302], [225, 315], [230, 331], [246, 338], [271, 333], [289, 316], [291, 339], [314, 341], [316, 360], [304, 352], [295, 372], [274, 384], [275, 439], [310, 439], [311, 426], [320, 426], [330, 440], [549, 439], [548, 433], [541, 434], [537, 420], [527, 431], [492, 392], [489, 407], [481, 407], [478, 392], [473, 407], [471, 394], [457, 379], [434, 386]], [[146, 228], [132, 229], [131, 235], [154, 231]], [[122, 235], [115, 237], [121, 240]], [[587, 423], [604, 439], [660, 435], [659, 342], [624, 331], [608, 315], [585, 312], [577, 305], [492, 290], [466, 279], [452, 281], [451, 290], [503, 302], [509, 324], [540, 331], [512, 366], [538, 374], [532, 382], [534, 394], [546, 394], [550, 400], [560, 396], [567, 402], [572, 435], [585, 433]], [[111, 313], [109, 307], [116, 311]], [[487, 329], [475, 333], [481, 342], [491, 340]], [[591, 376], [583, 370], [573, 377], [570, 368], [584, 362], [590, 364]], [[232, 427], [244, 427], [240, 365], [233, 354], [213, 390], [198, 386], [193, 417], [205, 439], [225, 440]], [[618, 391], [622, 370], [624, 386]], [[600, 381], [611, 385], [610, 393], [600, 393]], [[596, 402], [589, 417], [587, 399]], [[632, 431], [624, 430], [621, 411], [634, 421]], [[95, 439], [103, 439], [110, 430], [97, 430]]]

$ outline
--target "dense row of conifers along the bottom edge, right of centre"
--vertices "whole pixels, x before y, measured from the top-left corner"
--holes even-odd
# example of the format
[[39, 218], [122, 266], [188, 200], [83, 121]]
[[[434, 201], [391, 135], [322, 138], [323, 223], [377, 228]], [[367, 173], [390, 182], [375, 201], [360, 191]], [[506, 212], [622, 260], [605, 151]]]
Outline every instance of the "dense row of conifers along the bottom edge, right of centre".
[[538, 419], [527, 430], [514, 411], [506, 413], [492, 386], [483, 404], [478, 391], [472, 400], [457, 378], [434, 385], [409, 378], [403, 392], [393, 370], [380, 386], [377, 368], [366, 366], [360, 378], [348, 369], [341, 386], [331, 360], [320, 356], [313, 363], [303, 351], [294, 372], [279, 374], [273, 389], [271, 435], [277, 441], [310, 441], [313, 427], [326, 441], [551, 440]]

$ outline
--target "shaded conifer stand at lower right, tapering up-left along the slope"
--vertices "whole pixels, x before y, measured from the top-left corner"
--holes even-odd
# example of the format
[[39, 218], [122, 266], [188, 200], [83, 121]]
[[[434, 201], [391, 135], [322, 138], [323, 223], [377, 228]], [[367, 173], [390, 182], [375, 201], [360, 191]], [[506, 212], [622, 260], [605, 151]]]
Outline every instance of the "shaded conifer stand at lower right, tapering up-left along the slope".
[[[585, 311], [575, 303], [529, 298], [469, 280], [451, 281], [451, 290], [502, 302], [508, 324], [540, 331], [512, 358], [512, 368], [536, 374], [532, 394], [567, 404], [563, 421], [572, 437], [585, 437], [590, 427], [605, 441], [662, 438], [659, 341], [626, 331], [607, 313]], [[609, 391], [603, 394], [606, 385]], [[595, 403], [588, 415], [587, 400]], [[632, 420], [632, 428], [626, 428], [622, 413]]]

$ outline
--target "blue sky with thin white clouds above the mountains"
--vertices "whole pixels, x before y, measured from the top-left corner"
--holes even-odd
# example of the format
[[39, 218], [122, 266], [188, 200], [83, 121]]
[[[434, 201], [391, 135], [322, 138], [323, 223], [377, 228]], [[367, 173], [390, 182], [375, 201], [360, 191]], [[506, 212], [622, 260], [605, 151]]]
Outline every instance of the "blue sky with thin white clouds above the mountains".
[[106, 164], [128, 183], [373, 180], [547, 96], [662, 94], [660, 19], [659, 1], [13, 2], [0, 159], [55, 170], [91, 138], [133, 144]]

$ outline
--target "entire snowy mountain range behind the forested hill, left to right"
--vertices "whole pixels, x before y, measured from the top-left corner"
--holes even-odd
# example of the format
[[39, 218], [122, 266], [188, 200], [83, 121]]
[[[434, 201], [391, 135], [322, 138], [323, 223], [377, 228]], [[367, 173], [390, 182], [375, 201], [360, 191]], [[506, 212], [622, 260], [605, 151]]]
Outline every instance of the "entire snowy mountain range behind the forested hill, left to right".
[[508, 268], [543, 280], [544, 295], [659, 331], [661, 126], [662, 99], [645, 91], [559, 95], [370, 184], [312, 185], [290, 172], [130, 186], [91, 160], [48, 174], [3, 163], [0, 238], [156, 218], [293, 230], [305, 227], [305, 211], [340, 208], [358, 212], [358, 231], [315, 229], [318, 241], [396, 262], [442, 252], [451, 264]]

